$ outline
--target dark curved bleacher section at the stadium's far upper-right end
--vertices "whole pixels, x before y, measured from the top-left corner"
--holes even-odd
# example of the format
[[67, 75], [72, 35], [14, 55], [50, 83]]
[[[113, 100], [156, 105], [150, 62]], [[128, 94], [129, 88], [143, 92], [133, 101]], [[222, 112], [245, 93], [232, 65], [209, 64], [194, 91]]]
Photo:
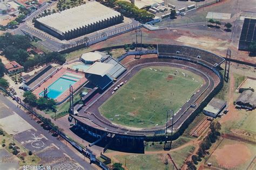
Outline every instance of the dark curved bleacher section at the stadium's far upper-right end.
[[215, 55], [211, 52], [204, 51], [203, 49], [188, 47], [188, 46], [179, 46], [179, 45], [158, 45], [158, 55], [176, 55], [183, 57], [192, 57], [196, 58], [196, 61], [207, 63], [210, 67], [219, 66], [222, 62], [225, 61], [221, 56]]

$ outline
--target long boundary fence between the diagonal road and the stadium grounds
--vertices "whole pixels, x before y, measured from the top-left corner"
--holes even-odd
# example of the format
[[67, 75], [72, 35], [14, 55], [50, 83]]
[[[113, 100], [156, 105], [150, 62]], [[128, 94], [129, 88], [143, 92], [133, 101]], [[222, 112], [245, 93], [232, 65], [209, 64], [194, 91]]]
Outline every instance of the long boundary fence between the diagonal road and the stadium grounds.
[[21, 104], [22, 107], [29, 111], [32, 115], [34, 115], [36, 118], [38, 118], [40, 121], [42, 121], [45, 125], [48, 125], [49, 128], [57, 133], [60, 137], [62, 137], [64, 140], [66, 140], [68, 143], [70, 143], [74, 148], [76, 148], [77, 151], [82, 153], [85, 157], [90, 158], [92, 162], [94, 162], [96, 165], [102, 167], [103, 169], [109, 169], [102, 161], [95, 159], [95, 155], [90, 151], [87, 147], [83, 148], [80, 146], [76, 141], [71, 140], [68, 136], [66, 136], [65, 133], [58, 130], [58, 126], [54, 125], [53, 123], [49, 123], [49, 119], [44, 118], [42, 115], [37, 114], [36, 111], [32, 110], [28, 105], [23, 103], [19, 98], [12, 95], [8, 90], [0, 87], [1, 90], [4, 91], [4, 93], [8, 94], [12, 99], [14, 99], [17, 103]]

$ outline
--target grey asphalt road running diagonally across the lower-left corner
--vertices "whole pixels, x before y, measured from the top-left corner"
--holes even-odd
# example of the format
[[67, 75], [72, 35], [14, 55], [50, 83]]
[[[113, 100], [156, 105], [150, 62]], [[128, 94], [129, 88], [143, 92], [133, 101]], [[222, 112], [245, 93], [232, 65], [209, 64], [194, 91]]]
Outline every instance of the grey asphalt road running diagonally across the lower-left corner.
[[[87, 158], [86, 161], [84, 161], [82, 158], [79, 157], [75, 152], [71, 150], [68, 146], [66, 146], [62, 141], [58, 140], [56, 137], [51, 136], [51, 133], [44, 130], [39, 124], [37, 124], [29, 115], [27, 115], [22, 109], [17, 108], [17, 105], [10, 101], [10, 98], [4, 97], [2, 94], [0, 94], [0, 103], [6, 105], [8, 107], [9, 112], [15, 112], [18, 116], [22, 117], [28, 124], [30, 124], [35, 130], [43, 134], [45, 136], [49, 143], [55, 144], [59, 151], [62, 151], [64, 154], [69, 155], [70, 158], [76, 160], [80, 166], [82, 166], [84, 169], [96, 169], [92, 165], [89, 164], [89, 161]], [[12, 125], [14, 126], [14, 125]], [[80, 154], [80, 153], [79, 153]], [[51, 157], [52, 155], [47, 155], [48, 157]]]

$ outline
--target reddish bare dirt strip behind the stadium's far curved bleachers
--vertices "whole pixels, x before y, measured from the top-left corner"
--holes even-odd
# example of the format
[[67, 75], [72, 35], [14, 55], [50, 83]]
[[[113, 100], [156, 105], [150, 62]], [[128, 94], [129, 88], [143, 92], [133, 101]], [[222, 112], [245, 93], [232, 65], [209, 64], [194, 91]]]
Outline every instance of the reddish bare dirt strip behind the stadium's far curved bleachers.
[[[205, 49], [206, 51], [215, 54], [226, 56], [226, 49], [232, 50], [232, 59], [256, 63], [256, 59], [248, 56], [248, 52], [238, 51], [238, 41], [230, 41], [230, 33], [224, 31], [204, 31], [193, 30], [190, 28], [171, 29], [160, 31], [148, 31], [142, 29], [144, 44], [176, 44], [187, 45], [196, 48]], [[131, 44], [136, 40], [136, 33], [129, 32], [117, 37], [99, 42], [98, 44], [90, 46], [92, 50], [116, 46], [123, 44]]]

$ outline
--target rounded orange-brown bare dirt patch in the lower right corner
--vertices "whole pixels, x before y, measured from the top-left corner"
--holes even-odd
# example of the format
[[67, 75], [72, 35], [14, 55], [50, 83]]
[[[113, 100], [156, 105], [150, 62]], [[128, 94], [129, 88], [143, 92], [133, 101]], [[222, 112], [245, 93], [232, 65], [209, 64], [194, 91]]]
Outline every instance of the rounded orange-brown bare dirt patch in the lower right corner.
[[225, 145], [214, 151], [218, 164], [230, 168], [244, 164], [251, 158], [249, 148], [244, 144]]

